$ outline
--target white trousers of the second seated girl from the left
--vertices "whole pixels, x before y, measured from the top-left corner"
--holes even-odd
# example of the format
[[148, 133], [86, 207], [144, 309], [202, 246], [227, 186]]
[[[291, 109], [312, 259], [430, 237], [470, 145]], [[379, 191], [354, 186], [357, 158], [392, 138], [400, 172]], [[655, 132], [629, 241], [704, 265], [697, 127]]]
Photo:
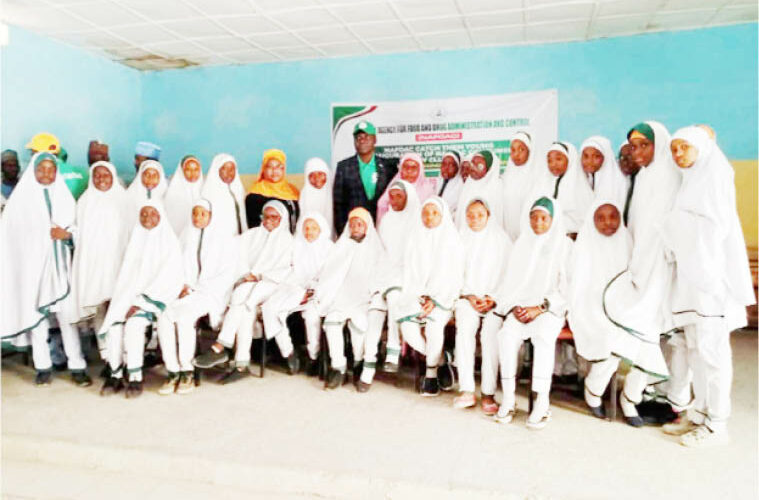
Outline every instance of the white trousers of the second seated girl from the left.
[[177, 299], [158, 318], [158, 341], [163, 364], [169, 373], [193, 371], [195, 323], [208, 314], [207, 302], [197, 293]]

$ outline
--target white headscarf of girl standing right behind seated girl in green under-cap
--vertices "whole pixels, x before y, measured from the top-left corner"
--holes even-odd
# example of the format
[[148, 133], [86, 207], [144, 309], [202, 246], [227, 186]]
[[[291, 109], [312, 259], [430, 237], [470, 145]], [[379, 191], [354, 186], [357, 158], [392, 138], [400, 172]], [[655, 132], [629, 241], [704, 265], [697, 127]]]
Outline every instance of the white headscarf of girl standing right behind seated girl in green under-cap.
[[[564, 230], [567, 233], [576, 233], [593, 202], [593, 191], [585, 172], [582, 171], [574, 145], [568, 142], [554, 142], [546, 156], [551, 151], [557, 151], [567, 157], [567, 170], [561, 177], [556, 177], [548, 169], [548, 161], [544, 159], [535, 177], [530, 199], [534, 201], [541, 196], [554, 197], [558, 191], [556, 199], [564, 211]], [[528, 204], [531, 203], [528, 200]], [[525, 207], [524, 210], [529, 210], [529, 207]]]

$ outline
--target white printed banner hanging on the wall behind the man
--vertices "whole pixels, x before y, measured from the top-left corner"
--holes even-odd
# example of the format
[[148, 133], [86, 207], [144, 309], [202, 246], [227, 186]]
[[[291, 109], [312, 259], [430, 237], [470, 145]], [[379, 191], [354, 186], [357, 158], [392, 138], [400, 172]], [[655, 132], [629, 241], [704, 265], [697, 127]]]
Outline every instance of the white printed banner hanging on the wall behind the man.
[[443, 154], [462, 156], [492, 149], [506, 165], [509, 138], [519, 130], [532, 137], [533, 151], [557, 140], [559, 99], [555, 89], [455, 99], [332, 104], [332, 167], [353, 156], [353, 128], [361, 121], [377, 129], [377, 153], [398, 158], [422, 155], [427, 176], [438, 175]]

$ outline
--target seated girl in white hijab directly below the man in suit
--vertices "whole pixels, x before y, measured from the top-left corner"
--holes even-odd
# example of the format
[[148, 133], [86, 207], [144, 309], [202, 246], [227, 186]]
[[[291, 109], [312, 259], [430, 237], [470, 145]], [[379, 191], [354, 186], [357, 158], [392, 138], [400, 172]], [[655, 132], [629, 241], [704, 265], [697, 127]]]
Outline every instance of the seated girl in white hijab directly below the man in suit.
[[[354, 377], [358, 375], [364, 358], [374, 276], [383, 252], [369, 211], [362, 207], [351, 210], [348, 224], [327, 257], [314, 289], [313, 300], [319, 315], [324, 317], [324, 333], [331, 358], [328, 389], [339, 387], [345, 377], [347, 361], [343, 352], [343, 327], [346, 323], [357, 365], [354, 366]], [[376, 354], [376, 346], [374, 352]]]

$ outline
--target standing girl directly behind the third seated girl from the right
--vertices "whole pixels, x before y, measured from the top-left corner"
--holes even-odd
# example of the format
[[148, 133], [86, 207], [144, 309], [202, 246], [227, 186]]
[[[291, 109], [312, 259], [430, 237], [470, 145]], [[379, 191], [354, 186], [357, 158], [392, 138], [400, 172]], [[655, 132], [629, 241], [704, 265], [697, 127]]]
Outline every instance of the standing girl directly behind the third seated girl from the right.
[[460, 230], [466, 225], [466, 207], [477, 197], [485, 197], [491, 201], [491, 213], [498, 224], [502, 225], [501, 159], [490, 150], [475, 153], [471, 159], [469, 177], [461, 189], [455, 210], [456, 227]]

